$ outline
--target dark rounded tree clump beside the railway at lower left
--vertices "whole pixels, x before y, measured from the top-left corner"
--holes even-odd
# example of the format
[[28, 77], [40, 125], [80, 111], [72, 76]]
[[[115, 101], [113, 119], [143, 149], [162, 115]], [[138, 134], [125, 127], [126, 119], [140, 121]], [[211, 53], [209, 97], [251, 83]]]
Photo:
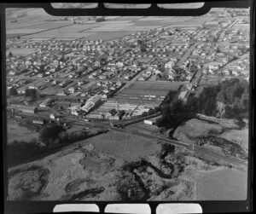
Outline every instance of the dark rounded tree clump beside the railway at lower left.
[[50, 146], [50, 143], [58, 138], [61, 131], [63, 131], [61, 125], [48, 124], [40, 131], [38, 138], [41, 142], [44, 142], [46, 146]]

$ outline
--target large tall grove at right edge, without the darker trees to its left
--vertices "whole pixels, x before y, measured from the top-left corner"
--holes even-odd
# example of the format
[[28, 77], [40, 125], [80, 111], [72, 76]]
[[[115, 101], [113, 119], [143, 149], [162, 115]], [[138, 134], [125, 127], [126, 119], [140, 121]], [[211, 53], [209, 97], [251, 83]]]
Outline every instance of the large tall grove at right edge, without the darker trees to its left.
[[[224, 104], [224, 113], [218, 113], [217, 102]], [[186, 106], [190, 112], [203, 113], [207, 116], [238, 118], [240, 113], [247, 113], [249, 104], [249, 84], [246, 80], [232, 78], [216, 86], [202, 90], [200, 97], [190, 98]]]

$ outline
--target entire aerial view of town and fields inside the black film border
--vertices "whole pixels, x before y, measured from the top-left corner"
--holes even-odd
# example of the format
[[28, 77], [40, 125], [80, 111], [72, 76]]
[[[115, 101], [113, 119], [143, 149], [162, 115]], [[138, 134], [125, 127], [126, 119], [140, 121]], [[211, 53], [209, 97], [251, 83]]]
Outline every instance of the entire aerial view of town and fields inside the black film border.
[[247, 199], [249, 9], [5, 17], [7, 200]]

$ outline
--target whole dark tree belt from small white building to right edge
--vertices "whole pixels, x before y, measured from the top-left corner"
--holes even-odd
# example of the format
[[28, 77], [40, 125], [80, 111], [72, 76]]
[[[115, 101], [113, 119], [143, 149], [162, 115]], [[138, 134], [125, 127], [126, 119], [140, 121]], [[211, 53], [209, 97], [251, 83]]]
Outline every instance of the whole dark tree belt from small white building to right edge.
[[[223, 103], [224, 113], [219, 114], [218, 102]], [[221, 115], [225, 119], [241, 119], [248, 112], [249, 84], [244, 79], [232, 78], [221, 84], [206, 87], [198, 97], [190, 96], [184, 103], [177, 96], [162, 104], [162, 118], [157, 121], [159, 127], [172, 128], [183, 116], [203, 113], [207, 116]]]

